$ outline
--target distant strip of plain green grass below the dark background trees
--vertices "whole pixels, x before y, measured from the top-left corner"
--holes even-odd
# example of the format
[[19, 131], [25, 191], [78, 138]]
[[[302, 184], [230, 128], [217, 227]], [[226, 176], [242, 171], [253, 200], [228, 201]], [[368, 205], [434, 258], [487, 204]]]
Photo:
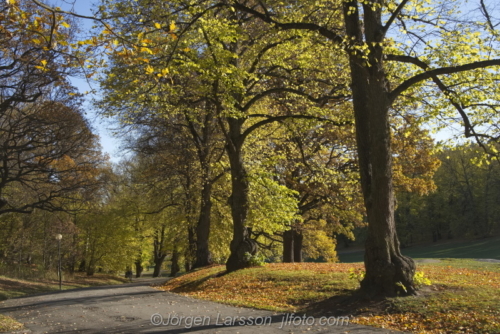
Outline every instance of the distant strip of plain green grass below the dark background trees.
[[[500, 260], [500, 237], [481, 240], [449, 241], [401, 249], [403, 255], [412, 258], [460, 258], [460, 259], [496, 259]], [[364, 251], [340, 252], [340, 262], [363, 262]]]

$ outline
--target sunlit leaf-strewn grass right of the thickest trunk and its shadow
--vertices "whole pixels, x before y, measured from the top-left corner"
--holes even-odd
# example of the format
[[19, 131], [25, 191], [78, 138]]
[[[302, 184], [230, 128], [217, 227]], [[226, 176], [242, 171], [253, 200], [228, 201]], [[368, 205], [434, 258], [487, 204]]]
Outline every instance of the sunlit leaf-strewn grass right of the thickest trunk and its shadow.
[[500, 331], [500, 265], [442, 259], [421, 264], [419, 270], [433, 283], [423, 296], [392, 298], [389, 314], [359, 317], [356, 322], [414, 333]]

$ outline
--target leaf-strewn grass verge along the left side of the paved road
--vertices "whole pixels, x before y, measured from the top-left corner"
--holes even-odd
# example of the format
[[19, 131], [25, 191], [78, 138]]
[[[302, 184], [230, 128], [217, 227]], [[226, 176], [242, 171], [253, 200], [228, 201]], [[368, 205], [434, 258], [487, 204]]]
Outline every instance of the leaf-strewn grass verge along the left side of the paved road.
[[[87, 277], [84, 274], [75, 274], [72, 278], [62, 281], [62, 288], [63, 290], [68, 290], [124, 282], [128, 282], [128, 280], [113, 275], [95, 274], [94, 276]], [[59, 281], [57, 280], [26, 281], [0, 276], [0, 301], [56, 290], [59, 290]], [[0, 314], [0, 332], [20, 329], [23, 329], [21, 323]]]

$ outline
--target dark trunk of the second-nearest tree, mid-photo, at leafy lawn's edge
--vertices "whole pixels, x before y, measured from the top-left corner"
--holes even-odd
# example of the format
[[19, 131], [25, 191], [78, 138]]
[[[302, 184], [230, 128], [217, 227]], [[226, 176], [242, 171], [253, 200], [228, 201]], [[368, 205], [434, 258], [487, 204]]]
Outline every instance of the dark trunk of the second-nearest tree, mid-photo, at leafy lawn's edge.
[[244, 119], [228, 118], [229, 138], [227, 153], [231, 166], [232, 193], [229, 199], [231, 215], [233, 218], [233, 240], [231, 241], [231, 254], [226, 262], [228, 272], [248, 267], [246, 253], [254, 255], [257, 253], [257, 244], [250, 238], [250, 229], [247, 228], [248, 215], [248, 174], [243, 165], [241, 135]]

